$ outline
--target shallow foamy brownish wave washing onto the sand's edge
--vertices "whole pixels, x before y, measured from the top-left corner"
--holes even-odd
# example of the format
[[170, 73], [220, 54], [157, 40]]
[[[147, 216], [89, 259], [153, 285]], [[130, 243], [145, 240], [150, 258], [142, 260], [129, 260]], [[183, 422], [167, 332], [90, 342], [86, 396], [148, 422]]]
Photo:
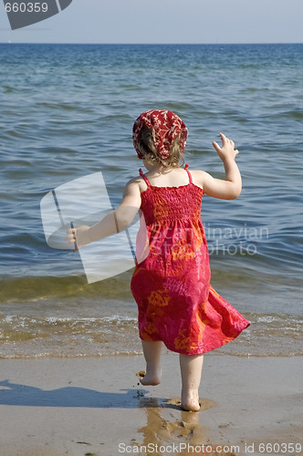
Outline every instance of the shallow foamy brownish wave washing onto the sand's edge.
[[[247, 313], [251, 326], [233, 343], [215, 350], [237, 357], [303, 355], [303, 319]], [[141, 353], [137, 317], [1, 315], [0, 358], [88, 357]]]

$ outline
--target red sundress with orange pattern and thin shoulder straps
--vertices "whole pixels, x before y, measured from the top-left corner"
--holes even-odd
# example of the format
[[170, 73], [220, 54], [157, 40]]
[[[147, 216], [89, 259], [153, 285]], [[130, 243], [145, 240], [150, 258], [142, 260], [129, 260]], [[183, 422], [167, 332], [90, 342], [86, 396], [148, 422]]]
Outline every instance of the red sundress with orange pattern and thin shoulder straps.
[[135, 268], [131, 293], [141, 339], [199, 355], [235, 339], [250, 323], [210, 285], [200, 219], [204, 190], [187, 168], [189, 183], [180, 187], [151, 186], [140, 170], [148, 186], [141, 192], [141, 211], [150, 252]]

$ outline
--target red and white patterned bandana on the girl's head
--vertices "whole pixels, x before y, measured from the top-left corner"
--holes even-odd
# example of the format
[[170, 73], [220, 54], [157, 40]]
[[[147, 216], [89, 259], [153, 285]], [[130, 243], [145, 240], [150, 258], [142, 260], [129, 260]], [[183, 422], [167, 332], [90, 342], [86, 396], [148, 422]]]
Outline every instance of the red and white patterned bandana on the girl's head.
[[188, 130], [183, 120], [172, 111], [152, 109], [143, 112], [133, 124], [133, 147], [141, 160], [144, 156], [139, 150], [139, 142], [141, 139], [141, 129], [144, 125], [151, 129], [155, 148], [162, 159], [169, 157], [172, 142], [178, 135], [180, 135], [182, 151], [184, 150]]

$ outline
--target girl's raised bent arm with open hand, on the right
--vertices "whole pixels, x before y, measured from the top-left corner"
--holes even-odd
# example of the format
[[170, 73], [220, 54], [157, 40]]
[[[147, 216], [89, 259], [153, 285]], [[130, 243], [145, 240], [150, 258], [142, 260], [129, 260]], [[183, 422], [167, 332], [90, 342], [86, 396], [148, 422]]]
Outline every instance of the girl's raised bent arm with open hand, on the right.
[[204, 188], [204, 192], [222, 200], [235, 200], [242, 190], [240, 171], [235, 163], [235, 156], [239, 153], [235, 150], [235, 143], [220, 133], [222, 147], [213, 142], [214, 149], [225, 165], [225, 181], [214, 179], [208, 172], [199, 171], [198, 180]]

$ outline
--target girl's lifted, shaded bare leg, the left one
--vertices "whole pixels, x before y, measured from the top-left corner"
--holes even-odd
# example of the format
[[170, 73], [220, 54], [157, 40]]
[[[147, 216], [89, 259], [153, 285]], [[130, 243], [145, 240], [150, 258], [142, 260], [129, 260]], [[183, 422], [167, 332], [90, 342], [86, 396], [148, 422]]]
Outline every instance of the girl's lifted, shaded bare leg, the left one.
[[161, 382], [162, 341], [147, 342], [142, 340], [143, 354], [146, 361], [146, 374], [141, 378], [142, 385], [159, 385]]

